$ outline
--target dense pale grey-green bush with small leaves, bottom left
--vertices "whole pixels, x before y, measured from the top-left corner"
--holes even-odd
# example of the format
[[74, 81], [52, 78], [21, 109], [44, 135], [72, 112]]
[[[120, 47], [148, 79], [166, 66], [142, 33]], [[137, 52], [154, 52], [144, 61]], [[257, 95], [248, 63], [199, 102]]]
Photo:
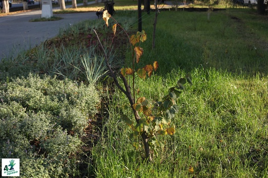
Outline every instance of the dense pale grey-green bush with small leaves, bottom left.
[[20, 158], [22, 177], [75, 174], [79, 135], [97, 112], [94, 86], [29, 75], [0, 85], [0, 158]]

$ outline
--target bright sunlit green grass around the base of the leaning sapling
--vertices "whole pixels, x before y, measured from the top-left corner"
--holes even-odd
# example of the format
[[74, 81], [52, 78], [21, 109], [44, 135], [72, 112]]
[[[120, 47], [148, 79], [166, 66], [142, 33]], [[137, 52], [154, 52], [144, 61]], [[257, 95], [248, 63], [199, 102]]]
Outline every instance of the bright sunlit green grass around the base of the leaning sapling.
[[[103, 137], [94, 147], [98, 178], [110, 177], [266, 177], [267, 176], [267, 77], [245, 79], [215, 69], [192, 71], [192, 88], [180, 99], [173, 120], [176, 133], [159, 137], [164, 148], [154, 162], [142, 161], [125, 123], [119, 122], [127, 104], [120, 92], [109, 107]], [[141, 95], [157, 100], [185, 73], [173, 70], [165, 78], [140, 80]], [[143, 155], [144, 156], [144, 155]], [[188, 172], [194, 167], [194, 173]]]

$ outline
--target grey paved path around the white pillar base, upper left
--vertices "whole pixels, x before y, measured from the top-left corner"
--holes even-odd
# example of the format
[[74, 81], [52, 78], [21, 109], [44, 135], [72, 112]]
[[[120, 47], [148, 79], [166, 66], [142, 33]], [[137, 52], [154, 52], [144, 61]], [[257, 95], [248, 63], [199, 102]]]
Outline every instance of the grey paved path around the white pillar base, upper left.
[[67, 28], [70, 24], [97, 19], [95, 12], [86, 12], [55, 14], [54, 16], [63, 17], [57, 21], [29, 22], [41, 18], [41, 14], [41, 10], [33, 10], [0, 17], [0, 60], [57, 36], [61, 28]]

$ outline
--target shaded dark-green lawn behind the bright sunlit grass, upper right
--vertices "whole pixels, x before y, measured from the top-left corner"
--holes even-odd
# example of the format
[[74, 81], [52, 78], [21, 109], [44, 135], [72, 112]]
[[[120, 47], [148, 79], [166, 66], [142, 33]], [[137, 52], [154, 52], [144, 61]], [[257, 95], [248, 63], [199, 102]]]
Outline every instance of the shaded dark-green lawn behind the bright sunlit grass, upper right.
[[[143, 29], [151, 37], [152, 25], [146, 24], [153, 23], [153, 16], [143, 18]], [[160, 73], [172, 68], [191, 71], [201, 66], [247, 75], [267, 73], [267, 23], [264, 16], [254, 15], [248, 9], [239, 12], [227, 9], [212, 12], [210, 21], [207, 21], [206, 12], [174, 14], [165, 11], [158, 20], [156, 48], [150, 50], [151, 38], [143, 46], [150, 51], [144, 53], [144, 58], [159, 60]], [[255, 23], [261, 24], [262, 28]]]

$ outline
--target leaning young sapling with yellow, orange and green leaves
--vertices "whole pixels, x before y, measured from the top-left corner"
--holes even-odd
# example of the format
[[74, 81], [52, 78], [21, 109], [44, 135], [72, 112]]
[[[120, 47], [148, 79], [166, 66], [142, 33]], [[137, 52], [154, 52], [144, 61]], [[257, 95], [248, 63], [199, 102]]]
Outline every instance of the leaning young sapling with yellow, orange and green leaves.
[[[108, 20], [112, 18], [107, 10], [103, 12], [103, 20], [106, 23], [106, 26], [109, 26]], [[112, 18], [113, 19], [113, 18]], [[114, 19], [116, 22], [116, 20]], [[113, 25], [114, 35], [116, 34], [117, 26], [121, 27], [117, 22]], [[122, 28], [123, 29], [123, 28]], [[124, 29], [123, 29], [124, 30]], [[184, 84], [187, 82], [192, 85], [192, 76], [188, 74], [185, 78], [181, 78], [175, 87], [169, 89], [169, 93], [162, 98], [161, 101], [156, 102], [152, 105], [145, 97], [139, 97], [135, 101], [135, 77], [138, 76], [141, 79], [150, 77], [153, 71], [156, 71], [158, 68], [158, 62], [154, 61], [153, 64], [145, 65], [143, 68], [135, 69], [135, 64], [139, 63], [140, 58], [143, 54], [143, 49], [139, 46], [140, 42], [146, 41], [146, 34], [144, 31], [137, 32], [129, 37], [128, 33], [124, 30], [125, 34], [128, 36], [130, 44], [133, 46], [132, 49], [132, 68], [123, 68], [119, 73], [116, 73], [112, 70], [109, 64], [109, 57], [107, 56], [103, 45], [98, 37], [98, 34], [93, 30], [97, 36], [98, 42], [101, 45], [102, 51], [104, 53], [106, 66], [110, 72], [115, 85], [127, 96], [129, 100], [130, 107], [132, 109], [135, 122], [126, 115], [121, 116], [121, 120], [130, 126], [132, 129], [132, 134], [130, 137], [141, 136], [142, 144], [144, 147], [145, 158], [151, 162], [152, 161], [152, 152], [151, 149], [156, 151], [157, 135], [165, 134], [174, 134], [175, 126], [171, 124], [172, 119], [175, 117], [175, 114], [178, 113], [179, 107], [177, 105], [177, 99], [182, 93], [182, 90], [185, 89]], [[134, 55], [135, 54], [135, 55]], [[123, 85], [118, 81], [118, 76], [123, 81]], [[132, 90], [128, 81], [127, 76], [132, 77]]]

